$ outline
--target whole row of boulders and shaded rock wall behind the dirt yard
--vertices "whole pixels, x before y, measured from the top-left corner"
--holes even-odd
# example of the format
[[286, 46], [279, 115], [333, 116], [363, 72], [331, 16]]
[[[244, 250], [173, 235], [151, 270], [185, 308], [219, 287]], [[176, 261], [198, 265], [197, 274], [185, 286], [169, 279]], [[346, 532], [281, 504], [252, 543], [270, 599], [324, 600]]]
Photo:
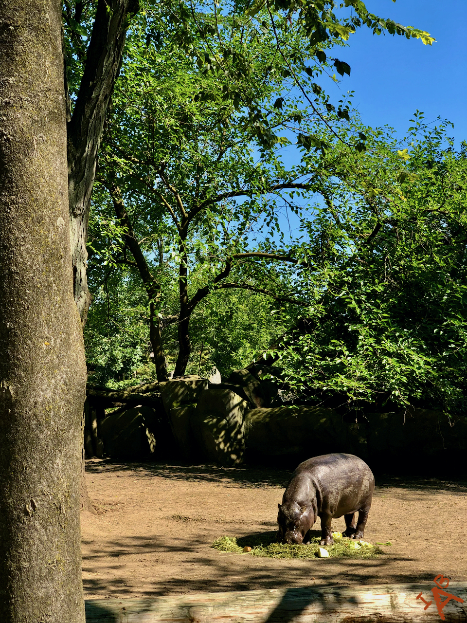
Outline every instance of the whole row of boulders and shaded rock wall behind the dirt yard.
[[[333, 409], [283, 404], [280, 381], [262, 379], [269, 370], [257, 368], [237, 370], [224, 383], [193, 375], [158, 385], [182, 460], [297, 465], [319, 454], [348, 452], [391, 473], [465, 464], [466, 418], [450, 421], [442, 412], [410, 408], [366, 413], [349, 423]], [[99, 426], [105, 454], [159, 458], [158, 447], [171, 437], [161, 433], [160, 416], [158, 426], [148, 407], [106, 417]]]

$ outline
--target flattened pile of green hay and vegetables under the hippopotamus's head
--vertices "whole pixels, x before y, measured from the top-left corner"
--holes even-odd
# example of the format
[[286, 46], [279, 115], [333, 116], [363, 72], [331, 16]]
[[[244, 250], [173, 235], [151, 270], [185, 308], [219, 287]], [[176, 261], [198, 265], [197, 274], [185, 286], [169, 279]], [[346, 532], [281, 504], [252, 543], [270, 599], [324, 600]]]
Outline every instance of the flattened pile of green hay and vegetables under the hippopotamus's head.
[[[342, 537], [340, 533], [333, 533], [334, 544], [325, 548], [329, 558], [377, 558], [384, 553], [377, 545], [371, 545], [366, 541], [354, 541]], [[243, 536], [238, 540], [235, 537], [222, 536], [212, 544], [214, 549], [235, 554], [250, 554], [250, 556], [265, 556], [266, 558], [315, 558], [319, 556], [319, 540], [316, 536], [311, 539], [309, 545], [285, 545], [277, 543], [276, 533], [262, 535]], [[244, 551], [243, 548], [251, 548]]]

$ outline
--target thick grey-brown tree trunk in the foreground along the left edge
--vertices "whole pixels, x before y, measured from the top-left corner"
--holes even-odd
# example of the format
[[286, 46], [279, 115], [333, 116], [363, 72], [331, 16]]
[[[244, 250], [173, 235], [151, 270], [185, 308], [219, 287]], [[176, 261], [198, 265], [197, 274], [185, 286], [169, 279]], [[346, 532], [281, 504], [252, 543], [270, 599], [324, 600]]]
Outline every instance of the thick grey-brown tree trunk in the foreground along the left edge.
[[1, 0], [0, 26], [0, 621], [83, 623], [60, 2]]

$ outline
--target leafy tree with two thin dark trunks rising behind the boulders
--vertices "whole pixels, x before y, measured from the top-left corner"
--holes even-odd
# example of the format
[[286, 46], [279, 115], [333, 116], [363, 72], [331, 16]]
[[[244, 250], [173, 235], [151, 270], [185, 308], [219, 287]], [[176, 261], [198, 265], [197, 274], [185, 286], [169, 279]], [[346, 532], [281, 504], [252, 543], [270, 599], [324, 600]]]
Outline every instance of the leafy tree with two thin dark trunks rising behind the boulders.
[[[310, 44], [288, 17], [255, 9], [253, 19], [238, 8], [146, 7], [133, 22], [106, 126], [99, 181], [107, 192], [95, 193], [93, 250], [139, 272], [159, 381], [167, 378], [163, 332], [176, 323], [174, 374], [183, 374], [191, 316], [210, 293], [244, 288], [304, 304], [294, 295], [293, 267], [281, 269], [287, 293], [270, 263], [306, 262], [303, 245], [285, 244], [278, 219], [284, 207], [298, 212], [285, 189], [315, 191], [316, 167], [286, 169], [279, 148], [292, 138], [323, 151], [323, 131], [336, 138], [339, 123], [349, 121], [348, 101], [336, 109], [313, 76], [350, 71], [324, 52], [350, 31]], [[362, 148], [358, 133], [347, 130], [346, 138]]]

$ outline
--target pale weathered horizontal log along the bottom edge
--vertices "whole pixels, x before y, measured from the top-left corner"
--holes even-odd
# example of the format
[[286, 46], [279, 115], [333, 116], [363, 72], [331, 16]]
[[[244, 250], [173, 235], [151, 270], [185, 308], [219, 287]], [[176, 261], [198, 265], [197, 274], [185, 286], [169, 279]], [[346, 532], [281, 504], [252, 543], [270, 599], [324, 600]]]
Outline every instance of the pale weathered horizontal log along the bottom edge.
[[[87, 623], [439, 623], [433, 582], [88, 599]], [[422, 593], [425, 603], [417, 599]], [[467, 582], [451, 582], [445, 623], [467, 620]], [[441, 597], [445, 601], [446, 596]]]

